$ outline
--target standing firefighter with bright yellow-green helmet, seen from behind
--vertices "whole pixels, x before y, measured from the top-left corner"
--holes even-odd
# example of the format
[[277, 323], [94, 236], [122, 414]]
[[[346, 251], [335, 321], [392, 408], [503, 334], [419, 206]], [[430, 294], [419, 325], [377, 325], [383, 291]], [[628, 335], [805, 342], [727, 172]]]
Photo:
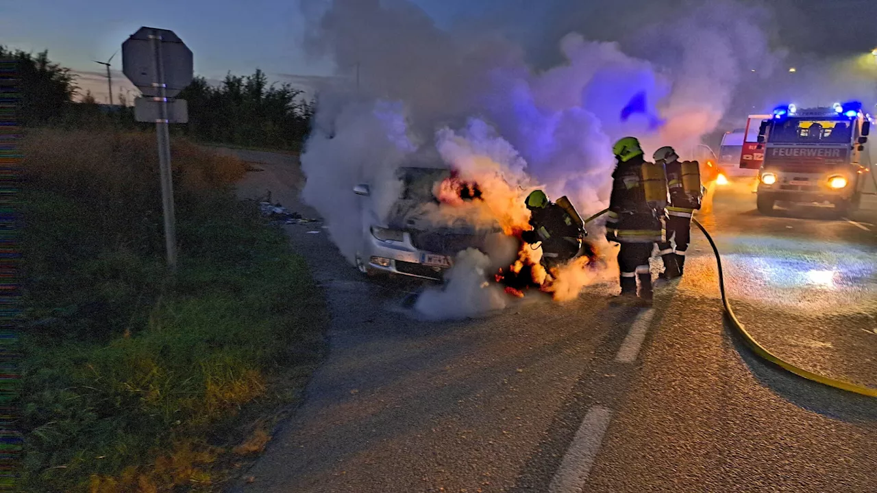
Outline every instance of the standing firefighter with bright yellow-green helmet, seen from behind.
[[666, 185], [663, 187], [664, 196], [661, 197], [661, 187], [653, 188], [660, 183], [647, 182], [645, 179], [654, 175], [652, 168], [655, 168], [655, 164], [645, 161], [637, 139], [625, 137], [618, 140], [612, 152], [617, 159], [617, 165], [612, 173], [606, 239], [621, 244], [618, 252], [621, 282], [619, 296], [624, 302], [634, 300], [637, 297], [639, 280], [639, 297], [646, 304], [651, 304], [652, 273], [649, 269], [649, 258], [655, 243], [659, 243], [664, 237], [661, 219], [667, 204]]

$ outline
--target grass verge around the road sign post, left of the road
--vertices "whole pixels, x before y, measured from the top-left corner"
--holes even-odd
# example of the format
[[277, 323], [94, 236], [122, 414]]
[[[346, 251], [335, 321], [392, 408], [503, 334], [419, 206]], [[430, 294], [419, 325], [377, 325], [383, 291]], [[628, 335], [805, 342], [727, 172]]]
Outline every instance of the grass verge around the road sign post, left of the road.
[[322, 354], [303, 259], [234, 198], [242, 161], [175, 141], [168, 280], [153, 135], [32, 130], [23, 148], [23, 488], [217, 489]]

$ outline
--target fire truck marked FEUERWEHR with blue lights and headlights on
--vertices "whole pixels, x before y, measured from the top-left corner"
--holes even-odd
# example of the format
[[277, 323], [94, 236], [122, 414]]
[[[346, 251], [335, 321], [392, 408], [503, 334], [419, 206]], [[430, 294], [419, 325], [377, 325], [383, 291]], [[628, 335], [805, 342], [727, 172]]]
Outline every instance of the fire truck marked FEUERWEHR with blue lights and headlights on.
[[777, 202], [833, 204], [841, 214], [858, 209], [870, 179], [865, 144], [872, 123], [859, 102], [774, 109], [756, 141], [745, 139], [740, 157], [741, 168], [759, 168], [759, 212], [769, 214]]

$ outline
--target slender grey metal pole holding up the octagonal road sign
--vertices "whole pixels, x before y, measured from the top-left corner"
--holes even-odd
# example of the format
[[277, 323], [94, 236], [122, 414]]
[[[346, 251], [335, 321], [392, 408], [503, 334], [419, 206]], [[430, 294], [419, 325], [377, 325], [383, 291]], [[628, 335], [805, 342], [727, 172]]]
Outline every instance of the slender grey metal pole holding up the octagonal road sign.
[[153, 30], [149, 35], [153, 46], [153, 87], [159, 89], [155, 101], [159, 103], [159, 118], [155, 120], [158, 135], [159, 169], [161, 176], [161, 205], [164, 212], [165, 247], [168, 249], [168, 268], [176, 270], [176, 218], [174, 214], [174, 182], [170, 168], [170, 133], [168, 132], [168, 91], [165, 85], [164, 63], [161, 60], [161, 35]]

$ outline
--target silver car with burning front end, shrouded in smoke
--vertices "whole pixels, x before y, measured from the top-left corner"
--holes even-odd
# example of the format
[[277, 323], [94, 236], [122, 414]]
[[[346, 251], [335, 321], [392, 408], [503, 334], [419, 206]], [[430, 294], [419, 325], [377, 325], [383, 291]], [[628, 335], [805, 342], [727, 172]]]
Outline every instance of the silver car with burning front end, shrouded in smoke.
[[[404, 275], [441, 281], [453, 265], [453, 257], [467, 248], [486, 252], [488, 244], [503, 235], [499, 224], [464, 217], [441, 218], [439, 196], [453, 191], [455, 200], [478, 200], [481, 192], [474, 184], [455, 180], [450, 168], [410, 166], [396, 170], [401, 190], [386, 219], [367, 216], [363, 242], [356, 254], [356, 265], [367, 275]], [[371, 197], [368, 183], [353, 192]], [[439, 192], [437, 194], [437, 192]], [[444, 219], [444, 220], [443, 220]]]

